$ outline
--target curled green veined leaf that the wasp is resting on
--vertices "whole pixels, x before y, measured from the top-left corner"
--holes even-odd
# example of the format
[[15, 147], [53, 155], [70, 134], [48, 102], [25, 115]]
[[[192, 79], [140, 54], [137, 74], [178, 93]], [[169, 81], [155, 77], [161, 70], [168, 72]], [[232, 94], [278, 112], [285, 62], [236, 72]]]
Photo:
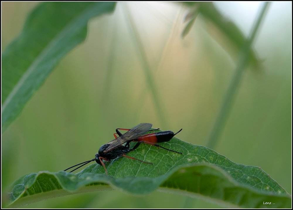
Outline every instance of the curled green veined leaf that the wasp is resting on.
[[127, 155], [153, 165], [118, 157], [106, 163], [108, 175], [97, 163], [75, 175], [64, 171], [33, 173], [15, 182], [8, 193], [9, 205], [19, 207], [69, 194], [120, 189], [136, 195], [154, 190], [178, 193], [228, 207], [291, 207], [291, 196], [260, 167], [234, 163], [212, 149], [175, 137], [160, 145], [183, 154], [142, 144]]

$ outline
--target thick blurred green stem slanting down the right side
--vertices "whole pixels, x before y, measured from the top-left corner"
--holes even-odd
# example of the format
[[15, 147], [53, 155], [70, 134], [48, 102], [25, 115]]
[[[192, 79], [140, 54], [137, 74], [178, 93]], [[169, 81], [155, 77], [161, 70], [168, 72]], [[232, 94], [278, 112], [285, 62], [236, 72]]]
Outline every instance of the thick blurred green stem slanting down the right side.
[[249, 50], [251, 49], [252, 43], [256, 37], [256, 33], [258, 29], [260, 28], [260, 24], [265, 17], [265, 13], [268, 10], [268, 7], [270, 5], [270, 2], [264, 2], [263, 6], [260, 10], [260, 13], [258, 17], [255, 19], [255, 22], [253, 24], [253, 27], [251, 29], [250, 35], [248, 39], [246, 39], [245, 44], [243, 45], [243, 49], [240, 52], [239, 55], [239, 63], [236, 66], [234, 75], [231, 79], [231, 82], [229, 84], [229, 87], [224, 95], [224, 99], [221, 104], [221, 108], [219, 111], [219, 114], [217, 115], [216, 121], [212, 127], [211, 132], [209, 133], [209, 137], [206, 141], [206, 146], [208, 148], [214, 148], [217, 140], [219, 140], [219, 136], [222, 133], [222, 130], [224, 128], [224, 125], [226, 123], [226, 119], [229, 115], [229, 112], [231, 111], [231, 106], [234, 101], [234, 98], [236, 96], [236, 90], [238, 90], [238, 86], [241, 82], [241, 76], [242, 72], [248, 65], [249, 61]]

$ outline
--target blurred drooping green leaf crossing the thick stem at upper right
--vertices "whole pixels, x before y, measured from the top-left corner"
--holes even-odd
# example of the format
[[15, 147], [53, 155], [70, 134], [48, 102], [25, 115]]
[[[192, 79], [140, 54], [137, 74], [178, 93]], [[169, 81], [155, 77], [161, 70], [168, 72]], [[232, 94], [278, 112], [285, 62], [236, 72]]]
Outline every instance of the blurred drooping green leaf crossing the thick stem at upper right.
[[[183, 4], [191, 8], [187, 15], [188, 17], [191, 16], [195, 18], [198, 12], [207, 22], [212, 23], [208, 24], [207, 32], [227, 51], [227, 53], [229, 53], [234, 60], [237, 60], [238, 54], [243, 48], [246, 40], [241, 30], [232, 21], [229, 21], [229, 19], [224, 17], [212, 2], [188, 1], [183, 2]], [[184, 30], [182, 31], [184, 36], [187, 35], [192, 25], [193, 23], [191, 21], [186, 24]], [[260, 63], [262, 61], [257, 58], [253, 50], [250, 50], [249, 57], [250, 63], [253, 67], [255, 67], [255, 69], [260, 67]]]

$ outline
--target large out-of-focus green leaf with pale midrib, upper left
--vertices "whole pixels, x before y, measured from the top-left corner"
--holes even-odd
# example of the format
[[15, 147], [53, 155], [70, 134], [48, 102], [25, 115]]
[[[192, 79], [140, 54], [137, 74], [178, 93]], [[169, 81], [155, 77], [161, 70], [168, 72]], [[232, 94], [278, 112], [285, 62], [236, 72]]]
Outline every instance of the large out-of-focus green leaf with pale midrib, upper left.
[[21, 113], [58, 62], [85, 40], [88, 20], [115, 2], [45, 2], [28, 16], [2, 54], [2, 133]]

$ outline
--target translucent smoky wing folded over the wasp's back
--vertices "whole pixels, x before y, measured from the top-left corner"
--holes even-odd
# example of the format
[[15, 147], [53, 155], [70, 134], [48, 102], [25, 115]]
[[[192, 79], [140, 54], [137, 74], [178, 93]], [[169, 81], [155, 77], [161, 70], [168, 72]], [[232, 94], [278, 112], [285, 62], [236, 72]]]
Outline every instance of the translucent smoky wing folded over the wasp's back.
[[151, 123], [140, 123], [137, 126], [131, 128], [126, 133], [123, 133], [121, 136], [108, 142], [107, 144], [110, 145], [107, 148], [105, 148], [104, 153], [113, 150], [114, 148], [126, 143], [127, 141], [136, 139], [137, 137], [147, 133], [147, 131], [151, 129], [151, 126], [153, 126]]

